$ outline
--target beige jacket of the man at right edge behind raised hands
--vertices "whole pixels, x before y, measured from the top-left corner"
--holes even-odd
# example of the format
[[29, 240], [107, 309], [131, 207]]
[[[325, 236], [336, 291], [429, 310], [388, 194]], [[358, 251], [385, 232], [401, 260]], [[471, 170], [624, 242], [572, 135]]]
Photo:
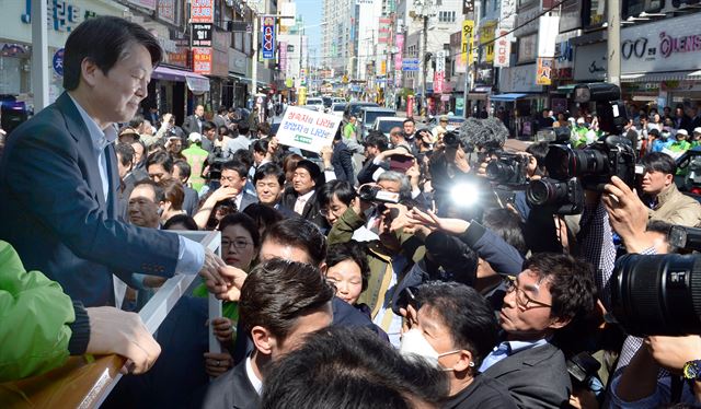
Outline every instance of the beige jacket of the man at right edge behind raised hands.
[[657, 204], [648, 210], [648, 214], [650, 220], [662, 220], [670, 224], [689, 227], [701, 225], [701, 204], [680, 192], [675, 184], [657, 195]]

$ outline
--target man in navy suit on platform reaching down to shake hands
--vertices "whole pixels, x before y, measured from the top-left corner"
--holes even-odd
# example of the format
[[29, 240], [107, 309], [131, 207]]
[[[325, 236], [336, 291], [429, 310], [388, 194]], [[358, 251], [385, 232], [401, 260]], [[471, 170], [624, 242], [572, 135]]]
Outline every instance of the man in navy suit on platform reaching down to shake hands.
[[117, 220], [114, 124], [134, 117], [161, 56], [138, 24], [87, 20], [66, 42], [67, 92], [14, 130], [0, 163], [0, 238], [85, 306], [115, 305], [113, 272], [202, 270], [226, 288], [200, 244]]

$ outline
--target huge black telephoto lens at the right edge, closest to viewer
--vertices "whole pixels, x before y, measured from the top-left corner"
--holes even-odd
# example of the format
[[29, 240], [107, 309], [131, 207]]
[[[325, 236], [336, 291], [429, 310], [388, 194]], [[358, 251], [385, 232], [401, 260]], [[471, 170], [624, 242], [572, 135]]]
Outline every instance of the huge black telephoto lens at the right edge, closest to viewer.
[[701, 257], [621, 257], [611, 278], [611, 309], [636, 337], [701, 334]]

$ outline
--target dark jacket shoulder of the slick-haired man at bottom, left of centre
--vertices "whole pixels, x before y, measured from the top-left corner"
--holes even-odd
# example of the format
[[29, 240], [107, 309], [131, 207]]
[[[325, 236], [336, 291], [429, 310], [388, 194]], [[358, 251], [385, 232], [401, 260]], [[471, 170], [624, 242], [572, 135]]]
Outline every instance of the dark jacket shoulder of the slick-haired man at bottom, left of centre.
[[195, 402], [194, 407], [203, 409], [260, 408], [261, 398], [245, 373], [245, 360], [212, 381], [202, 402]]

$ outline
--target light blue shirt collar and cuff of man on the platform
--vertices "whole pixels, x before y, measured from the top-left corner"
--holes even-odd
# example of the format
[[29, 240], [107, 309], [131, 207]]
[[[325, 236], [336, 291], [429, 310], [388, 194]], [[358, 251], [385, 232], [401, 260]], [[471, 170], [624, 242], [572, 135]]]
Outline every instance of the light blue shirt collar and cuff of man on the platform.
[[[73, 98], [72, 95], [68, 94], [76, 104], [76, 108], [78, 108], [78, 113], [83, 118], [83, 122], [85, 122], [85, 127], [88, 128], [88, 132], [90, 133], [90, 139], [92, 140], [93, 153], [97, 159], [97, 167], [100, 171], [100, 180], [102, 182], [102, 194], [105, 198], [105, 202], [110, 198], [110, 192], [114, 195], [114, 189], [110, 189], [110, 177], [107, 176], [107, 157], [105, 155], [105, 148], [110, 143], [113, 143], [117, 139], [117, 130], [114, 125], [107, 126], [104, 130], [100, 129], [97, 122], [88, 112], [83, 109], [82, 106]], [[114, 187], [116, 188], [116, 186]], [[194, 242], [189, 238], [185, 238], [183, 236], [179, 237], [179, 250], [177, 250], [177, 265], [175, 266], [175, 272], [185, 273], [185, 274], [196, 274], [202, 270], [202, 267], [205, 265], [205, 248], [202, 244]]]

